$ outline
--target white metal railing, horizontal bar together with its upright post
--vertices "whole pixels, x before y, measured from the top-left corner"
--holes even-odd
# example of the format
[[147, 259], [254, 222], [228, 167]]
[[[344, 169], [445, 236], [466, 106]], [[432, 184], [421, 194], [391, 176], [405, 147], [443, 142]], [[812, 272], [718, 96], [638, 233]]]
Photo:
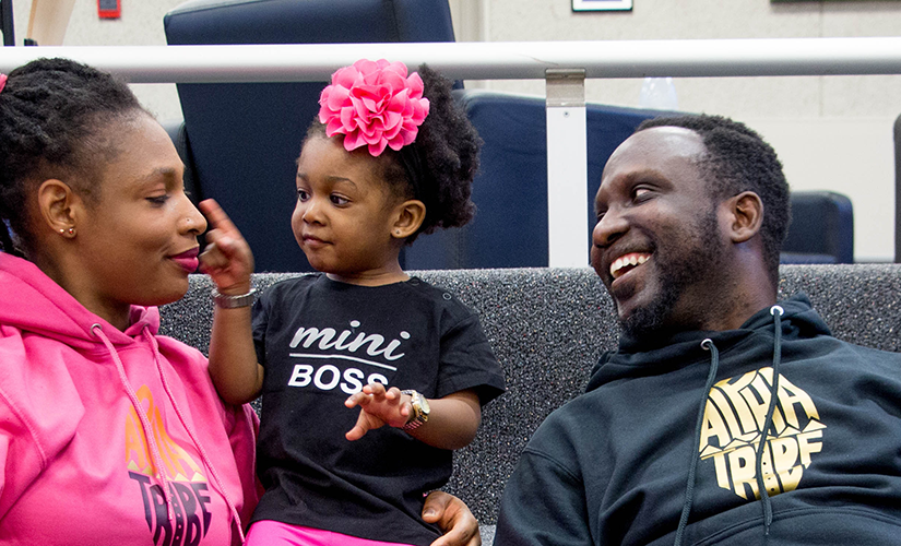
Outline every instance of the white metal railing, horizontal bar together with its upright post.
[[[428, 62], [454, 80], [546, 79], [552, 266], [583, 266], [588, 225], [584, 78], [901, 74], [901, 38], [3, 47], [0, 72], [67, 57], [133, 83], [325, 81], [357, 59]], [[556, 74], [556, 75], [553, 75]], [[579, 80], [579, 78], [576, 78]], [[562, 87], [559, 86], [562, 82]], [[555, 91], [557, 90], [557, 91]], [[559, 90], [564, 90], [558, 93]], [[557, 161], [555, 161], [557, 158]], [[556, 195], [579, 197], [554, 199]], [[897, 197], [896, 197], [897, 198]], [[577, 218], [578, 216], [578, 218]], [[898, 235], [896, 235], [898, 236]]]

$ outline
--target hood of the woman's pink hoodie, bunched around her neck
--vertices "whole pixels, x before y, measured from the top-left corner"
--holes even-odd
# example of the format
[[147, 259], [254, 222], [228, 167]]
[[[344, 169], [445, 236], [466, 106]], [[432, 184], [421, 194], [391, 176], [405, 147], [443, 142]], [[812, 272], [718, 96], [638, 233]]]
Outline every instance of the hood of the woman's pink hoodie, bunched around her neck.
[[3, 287], [0, 323], [50, 337], [74, 347], [99, 344], [92, 327], [99, 324], [114, 345], [132, 343], [147, 328], [159, 330], [155, 307], [132, 306], [130, 325], [121, 332], [84, 308], [34, 263], [0, 252], [0, 286]]

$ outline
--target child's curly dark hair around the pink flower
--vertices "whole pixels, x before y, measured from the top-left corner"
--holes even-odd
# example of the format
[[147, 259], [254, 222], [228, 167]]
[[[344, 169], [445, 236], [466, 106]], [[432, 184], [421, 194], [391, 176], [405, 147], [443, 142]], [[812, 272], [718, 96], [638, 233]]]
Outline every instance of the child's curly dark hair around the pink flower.
[[[399, 152], [387, 147], [375, 158], [381, 168], [381, 178], [399, 197], [419, 199], [426, 205], [423, 225], [407, 237], [407, 245], [420, 233], [460, 227], [472, 219], [475, 205], [470, 198], [482, 146], [482, 139], [466, 112], [451, 95], [451, 81], [426, 64], [417, 72], [423, 79], [423, 96], [429, 100], [428, 116], [412, 144]], [[324, 135], [325, 126], [317, 118], [304, 142]], [[343, 139], [343, 135], [335, 138]], [[368, 154], [365, 147], [351, 153]]]

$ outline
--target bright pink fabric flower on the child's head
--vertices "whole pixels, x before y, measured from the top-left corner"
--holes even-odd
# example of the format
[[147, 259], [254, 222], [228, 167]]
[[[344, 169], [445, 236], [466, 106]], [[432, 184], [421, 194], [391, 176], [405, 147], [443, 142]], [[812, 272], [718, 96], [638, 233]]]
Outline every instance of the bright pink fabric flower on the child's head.
[[328, 136], [343, 134], [345, 150], [367, 145], [374, 157], [386, 146], [396, 152], [415, 141], [428, 116], [419, 74], [407, 76], [403, 62], [384, 59], [361, 59], [335, 71], [319, 105]]

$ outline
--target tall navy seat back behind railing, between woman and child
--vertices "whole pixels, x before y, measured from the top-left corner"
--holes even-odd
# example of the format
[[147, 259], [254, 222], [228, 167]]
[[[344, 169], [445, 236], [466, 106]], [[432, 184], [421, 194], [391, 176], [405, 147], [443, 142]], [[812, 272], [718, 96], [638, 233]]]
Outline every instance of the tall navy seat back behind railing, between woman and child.
[[[200, 0], [167, 13], [165, 29], [170, 45], [454, 39], [448, 0]], [[325, 84], [178, 85], [195, 198], [223, 205], [257, 271], [310, 270], [291, 230], [295, 159]]]

